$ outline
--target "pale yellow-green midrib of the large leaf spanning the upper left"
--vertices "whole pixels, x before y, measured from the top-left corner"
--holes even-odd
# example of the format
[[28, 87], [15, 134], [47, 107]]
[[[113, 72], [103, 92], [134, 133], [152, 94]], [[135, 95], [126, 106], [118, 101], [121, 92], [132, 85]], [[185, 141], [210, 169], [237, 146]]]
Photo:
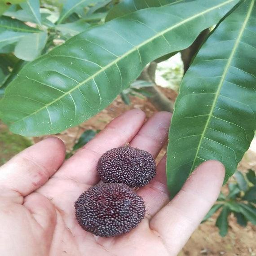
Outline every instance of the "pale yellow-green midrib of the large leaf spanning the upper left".
[[185, 19], [185, 20], [183, 20], [183, 21], [181, 21], [181, 22], [175, 24], [174, 26], [171, 26], [171, 27], [169, 27], [168, 29], [159, 32], [158, 34], [156, 34], [156, 35], [150, 37], [148, 40], [145, 40], [143, 43], [138, 44], [137, 46], [134, 46], [133, 49], [129, 50], [129, 51], [128, 51], [127, 53], [125, 53], [124, 55], [122, 55], [122, 56], [116, 58], [115, 61], [110, 62], [108, 65], [102, 67], [101, 70], [97, 71], [95, 74], [91, 75], [90, 77], [88, 77], [87, 79], [85, 79], [83, 82], [79, 83], [79, 84], [76, 85], [74, 88], [72, 88], [71, 90], [69, 90], [69, 91], [67, 91], [66, 93], [64, 93], [62, 96], [56, 98], [56, 99], [55, 99], [54, 101], [52, 101], [52, 102], [49, 102], [48, 104], [46, 104], [45, 106], [41, 107], [40, 109], [38, 109], [38, 110], [32, 112], [30, 115], [27, 115], [27, 116], [23, 117], [22, 119], [19, 119], [19, 120], [13, 122], [12, 124], [15, 124], [15, 123], [17, 123], [17, 122], [23, 121], [24, 119], [29, 118], [31, 115], [35, 115], [36, 113], [40, 112], [40, 111], [43, 110], [44, 108], [47, 109], [48, 106], [54, 104], [55, 102], [59, 101], [60, 99], [62, 99], [62, 98], [65, 97], [66, 95], [72, 93], [72, 92], [75, 91], [77, 88], [79, 88], [79, 87], [82, 86], [83, 84], [87, 83], [89, 80], [93, 79], [93, 78], [96, 77], [97, 75], [99, 75], [99, 74], [101, 74], [102, 72], [104, 72], [104, 71], [105, 71], [106, 69], [108, 69], [110, 66], [115, 65], [117, 62], [119, 62], [121, 59], [125, 58], [126, 56], [128, 56], [128, 55], [131, 54], [132, 52], [138, 51], [139, 48], [141, 48], [142, 46], [144, 46], [144, 45], [150, 43], [150, 42], [151, 42], [152, 40], [154, 40], [155, 38], [157, 38], [157, 37], [159, 37], [159, 36], [161, 36], [161, 35], [167, 33], [168, 31], [172, 31], [174, 28], [176, 28], [176, 27], [178, 27], [178, 26], [181, 26], [181, 25], [185, 24], [186, 22], [189, 22], [190, 20], [193, 20], [193, 19], [195, 19], [195, 18], [198, 18], [199, 16], [202, 16], [202, 15], [204, 15], [205, 13], [211, 12], [211, 11], [214, 10], [214, 9], [220, 8], [221, 6], [224, 6], [224, 5], [229, 4], [229, 3], [231, 3], [231, 2], [234, 2], [234, 1], [235, 1], [235, 0], [227, 0], [227, 1], [225, 1], [224, 3], [215, 5], [214, 7], [210, 8], [210, 9], [207, 9], [207, 10], [205, 10], [205, 11], [203, 11], [203, 12], [200, 12], [200, 13], [198, 13], [198, 14], [196, 14], [196, 15], [193, 15], [192, 17], [187, 18], [187, 19]]

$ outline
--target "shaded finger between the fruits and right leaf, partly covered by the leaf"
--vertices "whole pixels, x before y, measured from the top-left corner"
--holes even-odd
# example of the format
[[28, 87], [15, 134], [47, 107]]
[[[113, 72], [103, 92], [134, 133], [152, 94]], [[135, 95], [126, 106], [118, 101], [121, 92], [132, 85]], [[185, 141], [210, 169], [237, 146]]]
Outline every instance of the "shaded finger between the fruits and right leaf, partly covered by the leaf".
[[156, 169], [156, 176], [144, 187], [139, 188], [136, 192], [139, 194], [146, 205], [146, 217], [151, 219], [159, 209], [170, 201], [170, 195], [166, 180], [166, 155], [160, 160]]

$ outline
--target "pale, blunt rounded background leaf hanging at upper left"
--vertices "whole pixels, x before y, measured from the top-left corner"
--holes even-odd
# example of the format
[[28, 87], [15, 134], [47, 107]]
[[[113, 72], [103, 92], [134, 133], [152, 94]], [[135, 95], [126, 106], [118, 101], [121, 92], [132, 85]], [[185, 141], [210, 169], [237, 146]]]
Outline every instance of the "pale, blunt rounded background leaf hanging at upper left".
[[47, 33], [31, 33], [24, 35], [15, 47], [14, 54], [16, 57], [33, 61], [38, 57], [47, 42]]

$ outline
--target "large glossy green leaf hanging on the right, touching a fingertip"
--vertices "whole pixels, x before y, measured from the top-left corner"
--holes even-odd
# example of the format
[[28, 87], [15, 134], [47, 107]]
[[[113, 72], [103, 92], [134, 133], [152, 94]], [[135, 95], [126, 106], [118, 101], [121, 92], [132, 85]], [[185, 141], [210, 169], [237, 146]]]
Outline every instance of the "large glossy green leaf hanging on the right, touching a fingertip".
[[225, 165], [225, 181], [256, 129], [256, 4], [247, 0], [216, 28], [184, 76], [169, 133], [172, 196], [205, 160]]

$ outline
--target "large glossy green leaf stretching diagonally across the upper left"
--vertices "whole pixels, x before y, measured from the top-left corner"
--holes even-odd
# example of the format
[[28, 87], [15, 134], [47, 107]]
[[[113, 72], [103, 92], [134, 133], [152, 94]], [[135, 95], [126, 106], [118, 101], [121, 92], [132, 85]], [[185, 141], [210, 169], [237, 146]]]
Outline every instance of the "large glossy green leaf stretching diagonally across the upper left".
[[143, 9], [88, 29], [27, 64], [6, 88], [0, 116], [22, 135], [75, 126], [108, 106], [147, 63], [185, 49], [237, 3]]

